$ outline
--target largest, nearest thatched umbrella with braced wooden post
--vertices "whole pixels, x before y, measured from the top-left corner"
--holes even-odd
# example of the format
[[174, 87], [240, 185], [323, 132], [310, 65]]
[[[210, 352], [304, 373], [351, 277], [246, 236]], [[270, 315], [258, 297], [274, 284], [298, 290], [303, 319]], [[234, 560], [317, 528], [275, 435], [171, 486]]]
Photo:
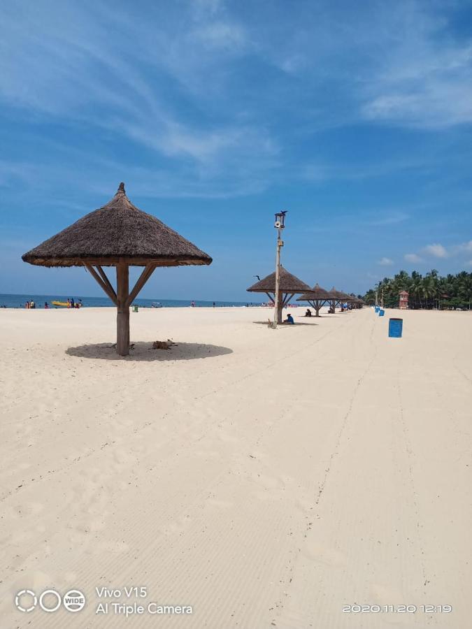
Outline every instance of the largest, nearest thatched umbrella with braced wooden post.
[[[90, 212], [22, 256], [38, 266], [84, 266], [117, 307], [117, 353], [129, 354], [129, 306], [157, 266], [210, 264], [212, 259], [129, 201], [120, 183], [103, 208]], [[116, 267], [117, 290], [103, 266]], [[144, 266], [129, 291], [129, 267]]]

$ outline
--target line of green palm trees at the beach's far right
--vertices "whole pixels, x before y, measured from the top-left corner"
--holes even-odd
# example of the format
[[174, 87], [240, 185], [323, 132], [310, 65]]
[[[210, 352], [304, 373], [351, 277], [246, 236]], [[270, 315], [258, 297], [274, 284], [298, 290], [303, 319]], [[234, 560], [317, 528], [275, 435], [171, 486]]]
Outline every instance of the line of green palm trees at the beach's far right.
[[369, 305], [378, 303], [383, 296], [385, 308], [398, 308], [400, 291], [408, 291], [409, 308], [471, 308], [472, 273], [461, 271], [456, 275], [441, 277], [433, 269], [426, 275], [413, 271], [409, 275], [401, 270], [394, 277], [383, 280], [366, 292], [363, 299]]

